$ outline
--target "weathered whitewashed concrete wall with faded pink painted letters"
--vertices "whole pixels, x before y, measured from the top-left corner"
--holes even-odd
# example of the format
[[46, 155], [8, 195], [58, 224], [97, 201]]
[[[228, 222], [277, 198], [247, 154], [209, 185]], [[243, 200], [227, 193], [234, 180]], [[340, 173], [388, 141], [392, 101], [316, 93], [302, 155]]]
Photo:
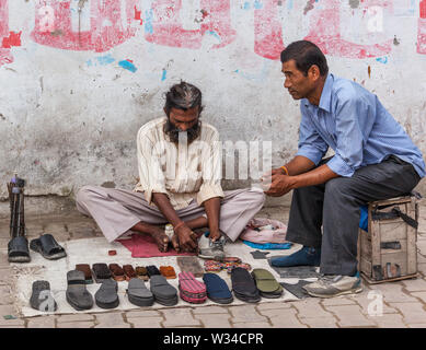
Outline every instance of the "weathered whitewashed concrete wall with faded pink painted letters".
[[136, 132], [181, 79], [202, 89], [222, 140], [272, 141], [284, 163], [300, 114], [279, 52], [301, 38], [376, 93], [426, 154], [425, 0], [0, 0], [0, 199], [14, 172], [43, 200], [84, 184], [131, 188]]

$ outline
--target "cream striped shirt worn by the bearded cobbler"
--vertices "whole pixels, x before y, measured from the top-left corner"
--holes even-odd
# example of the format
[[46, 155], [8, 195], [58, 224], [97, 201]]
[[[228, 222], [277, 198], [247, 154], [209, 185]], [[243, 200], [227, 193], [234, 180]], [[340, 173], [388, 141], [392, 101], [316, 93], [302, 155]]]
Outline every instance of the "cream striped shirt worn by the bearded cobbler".
[[137, 135], [139, 183], [149, 205], [152, 192], [168, 195], [175, 210], [186, 208], [194, 199], [198, 205], [223, 197], [219, 132], [202, 122], [200, 135], [189, 144], [174, 144], [163, 131], [166, 117], [143, 125]]

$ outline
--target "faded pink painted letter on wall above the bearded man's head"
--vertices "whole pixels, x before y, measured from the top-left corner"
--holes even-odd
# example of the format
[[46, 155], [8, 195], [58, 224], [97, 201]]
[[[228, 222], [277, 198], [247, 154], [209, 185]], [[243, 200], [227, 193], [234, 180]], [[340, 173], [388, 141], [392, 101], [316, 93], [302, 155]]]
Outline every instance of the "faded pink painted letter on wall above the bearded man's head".
[[206, 33], [220, 37], [220, 43], [214, 45], [214, 48], [223, 47], [235, 38], [237, 33], [231, 27], [230, 0], [202, 0], [198, 30], [184, 28], [181, 19], [182, 0], [157, 0], [151, 7], [149, 26], [146, 26], [149, 30], [145, 34], [149, 43], [198, 49]]

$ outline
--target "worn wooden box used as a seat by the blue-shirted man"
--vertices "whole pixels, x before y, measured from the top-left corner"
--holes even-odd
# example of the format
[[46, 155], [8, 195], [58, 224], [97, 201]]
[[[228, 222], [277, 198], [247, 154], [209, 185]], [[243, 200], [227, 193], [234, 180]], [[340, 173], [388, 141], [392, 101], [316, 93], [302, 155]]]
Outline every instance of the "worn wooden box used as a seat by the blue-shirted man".
[[368, 203], [368, 232], [359, 229], [358, 235], [358, 270], [369, 283], [417, 277], [417, 221], [415, 197]]

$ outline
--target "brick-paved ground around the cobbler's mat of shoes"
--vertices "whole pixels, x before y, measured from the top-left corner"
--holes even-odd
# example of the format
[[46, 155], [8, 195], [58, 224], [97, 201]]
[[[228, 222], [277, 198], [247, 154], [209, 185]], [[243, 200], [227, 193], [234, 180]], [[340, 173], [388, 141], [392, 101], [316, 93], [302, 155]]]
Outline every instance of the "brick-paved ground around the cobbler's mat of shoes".
[[[287, 207], [263, 209], [256, 217], [288, 220]], [[25, 218], [28, 237], [55, 232], [58, 241], [101, 236], [93, 220], [78, 212]], [[9, 221], [0, 220], [0, 328], [424, 328], [426, 327], [426, 203], [422, 202], [417, 237], [417, 279], [368, 285], [356, 295], [283, 303], [206, 307], [141, 307], [128, 312], [20, 317], [12, 304], [4, 253]], [[380, 303], [375, 303], [380, 302]], [[5, 319], [12, 315], [13, 319]], [[10, 317], [9, 317], [10, 318]]]

